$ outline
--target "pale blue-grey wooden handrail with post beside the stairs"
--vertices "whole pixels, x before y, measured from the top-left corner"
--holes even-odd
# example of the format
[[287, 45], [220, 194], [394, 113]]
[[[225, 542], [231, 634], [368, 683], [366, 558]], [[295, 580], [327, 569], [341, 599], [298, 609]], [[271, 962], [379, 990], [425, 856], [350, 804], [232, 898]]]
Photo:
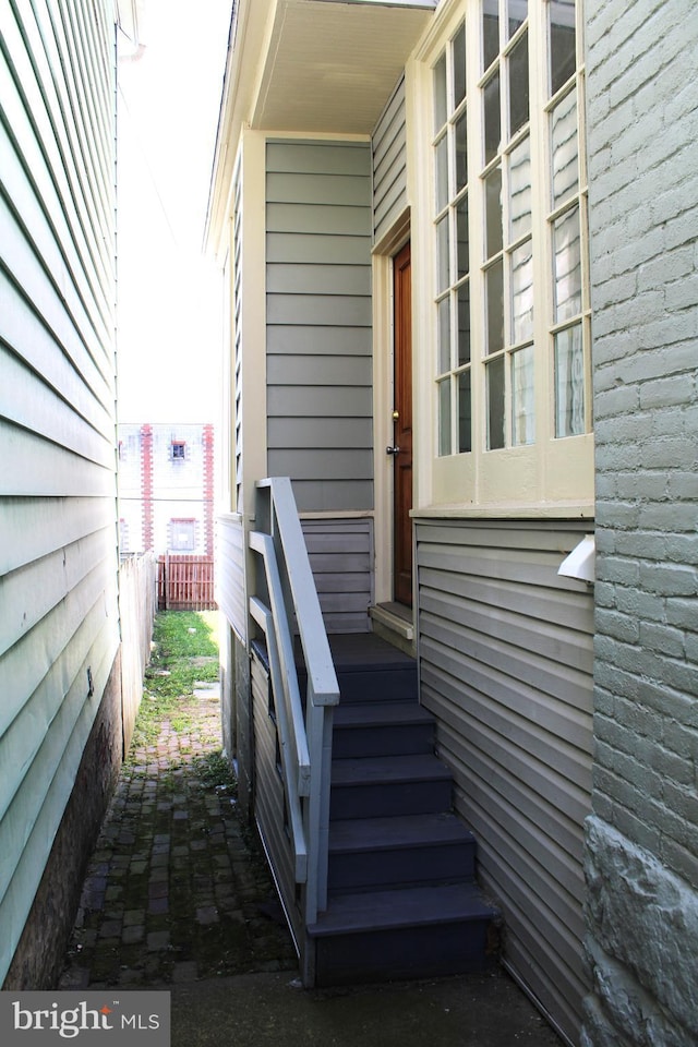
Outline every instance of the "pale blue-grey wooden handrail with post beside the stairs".
[[[296, 882], [302, 884], [302, 923], [308, 927], [327, 906], [332, 725], [339, 686], [287, 477], [257, 483], [256, 524], [258, 529], [250, 532], [249, 542], [264, 565], [264, 586], [257, 590], [266, 591], [250, 598], [250, 615], [266, 638], [293, 868]], [[293, 622], [308, 671], [304, 711], [293, 655]], [[312, 984], [313, 960], [309, 950], [304, 952], [303, 979]]]

